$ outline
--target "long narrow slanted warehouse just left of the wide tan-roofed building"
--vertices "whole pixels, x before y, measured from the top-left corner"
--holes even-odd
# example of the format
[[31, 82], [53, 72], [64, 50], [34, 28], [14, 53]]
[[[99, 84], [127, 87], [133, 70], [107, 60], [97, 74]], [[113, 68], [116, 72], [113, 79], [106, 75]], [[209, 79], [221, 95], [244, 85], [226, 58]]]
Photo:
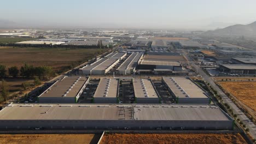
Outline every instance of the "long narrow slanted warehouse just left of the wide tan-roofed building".
[[137, 64], [141, 61], [143, 56], [143, 53], [137, 53], [133, 52], [126, 60], [124, 63], [120, 65], [120, 67], [117, 69], [118, 73], [120, 75], [129, 75], [133, 74], [135, 71], [135, 68]]

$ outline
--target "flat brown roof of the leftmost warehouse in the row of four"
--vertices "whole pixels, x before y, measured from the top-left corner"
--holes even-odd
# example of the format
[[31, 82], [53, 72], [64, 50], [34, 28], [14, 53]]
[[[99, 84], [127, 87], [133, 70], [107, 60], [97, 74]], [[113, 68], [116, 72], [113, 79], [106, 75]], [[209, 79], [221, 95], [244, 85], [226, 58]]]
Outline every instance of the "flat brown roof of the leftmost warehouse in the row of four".
[[39, 97], [76, 97], [88, 79], [80, 76], [65, 76], [46, 89]]

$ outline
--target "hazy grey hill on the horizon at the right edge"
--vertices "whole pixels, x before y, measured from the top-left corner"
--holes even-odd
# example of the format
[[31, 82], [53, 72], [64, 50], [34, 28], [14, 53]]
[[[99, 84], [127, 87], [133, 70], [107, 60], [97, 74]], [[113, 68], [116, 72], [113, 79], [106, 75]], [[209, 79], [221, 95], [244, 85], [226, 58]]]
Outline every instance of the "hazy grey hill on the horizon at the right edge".
[[209, 35], [244, 35], [252, 36], [256, 35], [256, 21], [248, 25], [234, 25], [221, 29], [216, 29], [214, 31], [207, 31], [205, 34]]

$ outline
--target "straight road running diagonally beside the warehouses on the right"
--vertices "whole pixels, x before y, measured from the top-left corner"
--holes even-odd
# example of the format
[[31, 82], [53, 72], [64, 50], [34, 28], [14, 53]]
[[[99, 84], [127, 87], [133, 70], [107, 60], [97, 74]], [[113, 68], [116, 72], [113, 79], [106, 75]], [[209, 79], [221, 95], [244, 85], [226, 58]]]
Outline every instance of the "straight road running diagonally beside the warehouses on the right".
[[[185, 51], [184, 51], [185, 52]], [[189, 63], [195, 68], [195, 71], [197, 74], [201, 75], [202, 78], [210, 83], [210, 86], [214, 88], [218, 95], [222, 97], [224, 103], [228, 104], [233, 112], [237, 115], [237, 118], [241, 119], [241, 121], [246, 124], [246, 127], [249, 128], [249, 134], [253, 137], [253, 139], [256, 139], [256, 126], [255, 124], [243, 113], [236, 104], [216, 85], [214, 80], [208, 76], [205, 71], [203, 71], [198, 64], [190, 57], [188, 56], [188, 53], [185, 52], [184, 56], [188, 58]]]

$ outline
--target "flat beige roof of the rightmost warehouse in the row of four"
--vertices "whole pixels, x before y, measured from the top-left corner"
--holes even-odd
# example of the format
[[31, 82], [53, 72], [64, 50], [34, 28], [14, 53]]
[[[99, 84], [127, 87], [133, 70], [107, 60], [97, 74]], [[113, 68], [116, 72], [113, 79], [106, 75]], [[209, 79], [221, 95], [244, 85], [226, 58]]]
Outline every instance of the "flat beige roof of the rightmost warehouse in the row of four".
[[205, 92], [185, 77], [162, 77], [166, 85], [179, 98], [208, 98]]

